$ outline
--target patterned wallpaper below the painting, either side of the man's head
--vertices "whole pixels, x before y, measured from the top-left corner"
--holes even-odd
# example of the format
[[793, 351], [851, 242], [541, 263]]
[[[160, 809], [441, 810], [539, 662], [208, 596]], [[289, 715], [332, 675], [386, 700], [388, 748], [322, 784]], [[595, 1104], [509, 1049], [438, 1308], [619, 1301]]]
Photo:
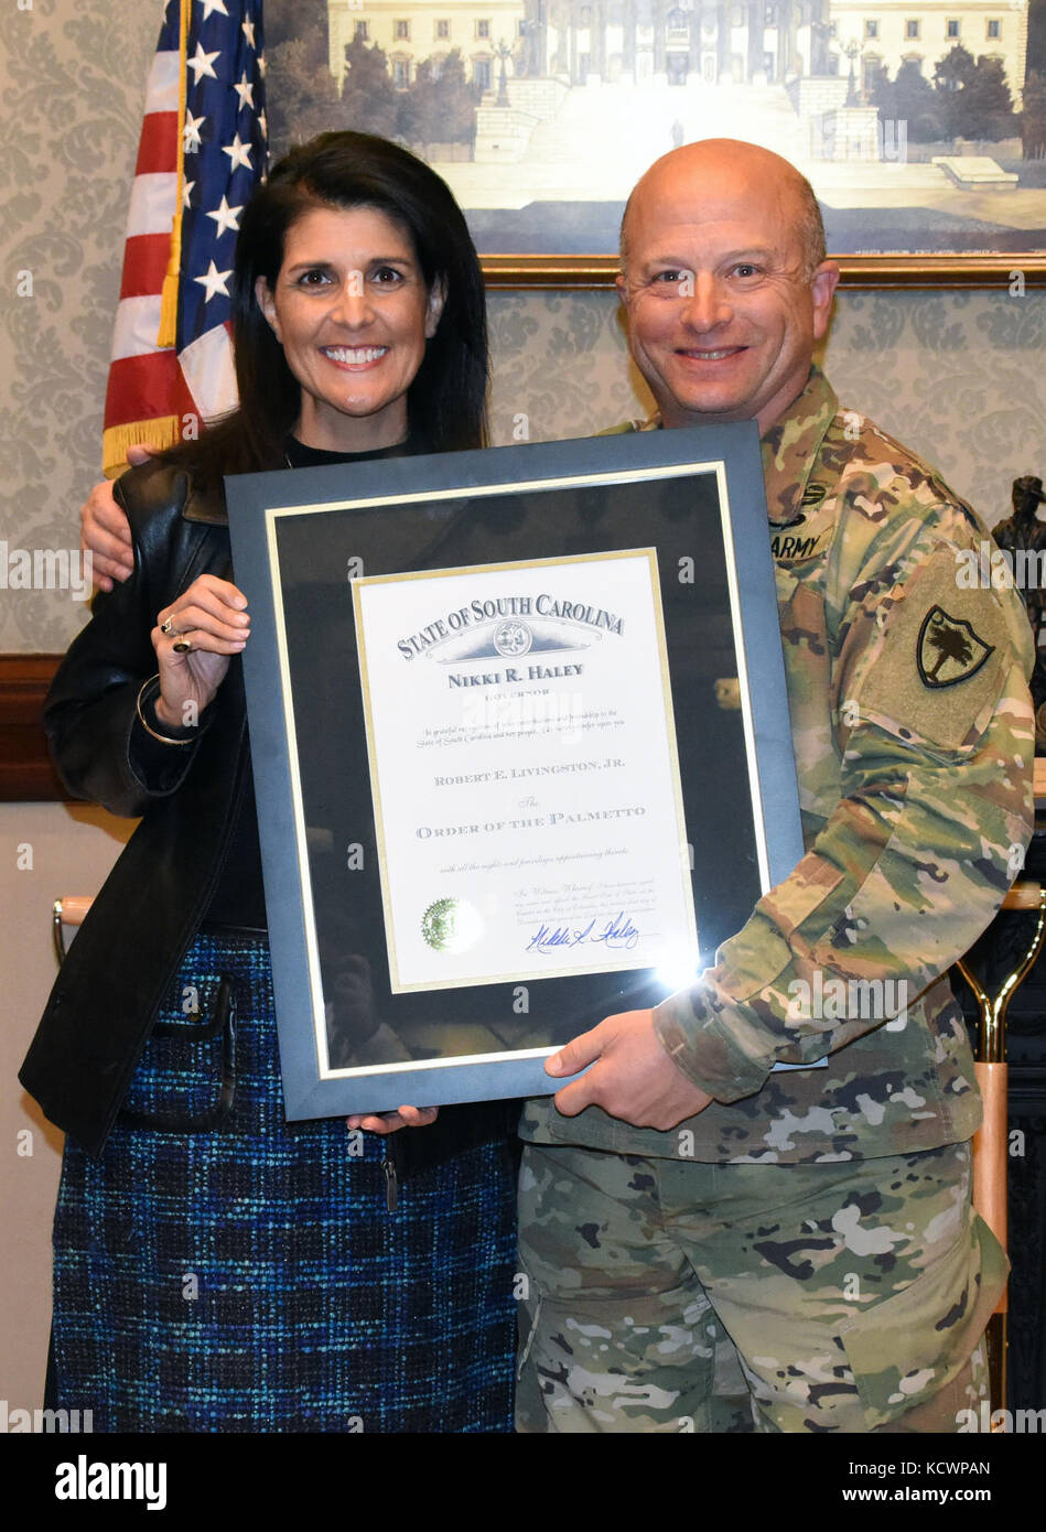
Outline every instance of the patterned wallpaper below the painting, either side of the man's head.
[[[608, 293], [492, 294], [492, 420], [573, 437], [652, 406]], [[844, 291], [821, 357], [844, 404], [937, 466], [985, 521], [1046, 478], [1046, 291]]]

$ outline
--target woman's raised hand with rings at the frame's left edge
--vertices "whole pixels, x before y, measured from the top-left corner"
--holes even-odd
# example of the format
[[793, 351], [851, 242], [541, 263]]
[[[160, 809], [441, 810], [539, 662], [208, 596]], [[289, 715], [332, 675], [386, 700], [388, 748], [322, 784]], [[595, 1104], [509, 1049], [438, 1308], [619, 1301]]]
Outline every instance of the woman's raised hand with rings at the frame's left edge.
[[168, 728], [187, 728], [214, 700], [230, 656], [250, 637], [247, 596], [227, 579], [199, 574], [156, 614], [152, 639], [159, 665], [155, 712]]

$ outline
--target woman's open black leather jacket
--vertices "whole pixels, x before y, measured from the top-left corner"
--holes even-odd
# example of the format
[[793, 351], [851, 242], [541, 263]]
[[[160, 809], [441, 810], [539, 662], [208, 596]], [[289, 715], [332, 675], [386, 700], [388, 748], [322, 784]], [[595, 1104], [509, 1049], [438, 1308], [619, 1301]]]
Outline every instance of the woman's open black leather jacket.
[[[46, 1117], [95, 1157], [217, 885], [250, 775], [239, 657], [201, 715], [196, 743], [153, 740], [136, 708], [158, 668], [156, 613], [199, 574], [231, 579], [224, 499], [164, 463], [126, 473], [116, 499], [130, 521], [135, 571], [95, 597], [47, 694], [44, 726], [74, 797], [142, 821], [69, 950], [18, 1075]], [[433, 1126], [404, 1129], [389, 1144], [398, 1167], [415, 1174], [507, 1134], [510, 1120], [512, 1103], [444, 1108]]]

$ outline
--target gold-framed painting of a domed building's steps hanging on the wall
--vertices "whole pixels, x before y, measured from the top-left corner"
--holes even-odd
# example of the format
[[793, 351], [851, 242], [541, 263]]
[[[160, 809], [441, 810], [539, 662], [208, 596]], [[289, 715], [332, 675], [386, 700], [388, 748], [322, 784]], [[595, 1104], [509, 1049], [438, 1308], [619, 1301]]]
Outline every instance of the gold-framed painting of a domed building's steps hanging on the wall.
[[322, 127], [409, 144], [492, 286], [611, 285], [631, 187], [712, 136], [810, 179], [844, 282], [1046, 280], [1035, 0], [273, 0], [266, 17], [274, 152]]

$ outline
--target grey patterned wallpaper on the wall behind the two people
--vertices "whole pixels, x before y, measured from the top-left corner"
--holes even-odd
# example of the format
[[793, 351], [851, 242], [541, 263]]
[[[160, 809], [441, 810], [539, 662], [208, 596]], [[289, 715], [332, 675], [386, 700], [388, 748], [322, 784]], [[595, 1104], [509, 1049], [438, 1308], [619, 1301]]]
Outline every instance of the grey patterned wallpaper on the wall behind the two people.
[[[5, 219], [0, 542], [72, 548], [98, 475], [123, 230], [158, 0], [0, 11]], [[32, 296], [18, 296], [18, 273]], [[25, 286], [25, 279], [21, 279]], [[492, 296], [495, 440], [597, 430], [649, 401], [610, 293]], [[1046, 290], [845, 293], [825, 365], [853, 404], [936, 463], [994, 522], [1017, 473], [1046, 476]], [[0, 651], [61, 650], [63, 591], [0, 590]]]

